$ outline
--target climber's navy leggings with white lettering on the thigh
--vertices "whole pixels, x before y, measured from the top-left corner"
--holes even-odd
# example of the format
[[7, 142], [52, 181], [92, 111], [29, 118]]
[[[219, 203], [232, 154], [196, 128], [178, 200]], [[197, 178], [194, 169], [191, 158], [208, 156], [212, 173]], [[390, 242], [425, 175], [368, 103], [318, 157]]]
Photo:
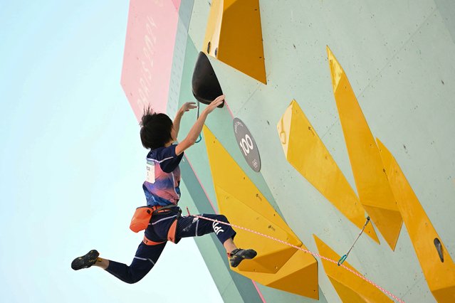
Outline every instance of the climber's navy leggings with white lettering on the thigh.
[[[164, 243], [159, 245], [145, 245], [145, 243], [141, 242], [130, 266], [110, 260], [106, 270], [123, 282], [132, 284], [140, 281], [148, 272], [150, 272], [159, 259], [161, 252], [164, 250], [164, 246], [166, 246], [167, 243], [167, 231], [175, 216], [177, 216], [175, 213], [167, 215], [154, 214], [149, 227], [145, 230], [145, 236], [149, 240], [155, 242], [164, 241]], [[229, 223], [227, 218], [223, 215], [203, 214], [202, 216]], [[229, 238], [234, 239], [234, 236], [236, 235], [234, 229], [229, 225], [196, 218], [194, 216], [186, 216], [179, 218], [177, 221], [175, 243], [178, 243], [182, 238], [197, 237], [199, 235], [206, 235], [207, 233], [215, 233], [221, 244]]]

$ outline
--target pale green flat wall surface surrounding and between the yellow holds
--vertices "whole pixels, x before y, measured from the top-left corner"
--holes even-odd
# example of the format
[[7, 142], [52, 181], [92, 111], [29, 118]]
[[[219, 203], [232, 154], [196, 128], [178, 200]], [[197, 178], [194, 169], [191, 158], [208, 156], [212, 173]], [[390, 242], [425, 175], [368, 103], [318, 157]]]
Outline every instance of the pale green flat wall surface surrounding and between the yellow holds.
[[[452, 2], [261, 1], [268, 85], [211, 60], [234, 116], [246, 123], [256, 139], [261, 174], [251, 171], [241, 156], [226, 109], [216, 109], [207, 125], [263, 194], [268, 195], [264, 188], [270, 189], [270, 201], [276, 201], [283, 218], [310, 250], [317, 252], [314, 233], [342, 255], [359, 231], [288, 164], [276, 131], [276, 123], [296, 99], [355, 189], [333, 97], [325, 52], [328, 45], [347, 73], [372, 134], [394, 154], [455, 257], [450, 225], [455, 213]], [[208, 14], [209, 2], [195, 1], [189, 33], [196, 47], [192, 48], [194, 57], [187, 59], [192, 66], [184, 68], [180, 102], [194, 100], [192, 69]], [[196, 119], [194, 112], [187, 115], [182, 121], [185, 134]], [[187, 154], [214, 201], [204, 142]], [[434, 302], [406, 228], [402, 228], [395, 252], [378, 236], [382, 245], [362, 236], [347, 261], [406, 302]], [[319, 279], [321, 297], [339, 302], [322, 266]], [[267, 302], [283, 299], [275, 289], [260, 288]]]

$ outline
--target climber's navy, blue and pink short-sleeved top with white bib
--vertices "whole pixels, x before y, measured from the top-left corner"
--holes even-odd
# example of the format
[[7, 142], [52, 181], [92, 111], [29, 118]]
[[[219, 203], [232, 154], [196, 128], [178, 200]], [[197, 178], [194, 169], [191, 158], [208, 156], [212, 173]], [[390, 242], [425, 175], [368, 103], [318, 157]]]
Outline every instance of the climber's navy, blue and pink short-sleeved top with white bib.
[[147, 206], [177, 205], [180, 199], [179, 163], [183, 154], [175, 154], [177, 145], [152, 149], [147, 154], [147, 180], [142, 184]]

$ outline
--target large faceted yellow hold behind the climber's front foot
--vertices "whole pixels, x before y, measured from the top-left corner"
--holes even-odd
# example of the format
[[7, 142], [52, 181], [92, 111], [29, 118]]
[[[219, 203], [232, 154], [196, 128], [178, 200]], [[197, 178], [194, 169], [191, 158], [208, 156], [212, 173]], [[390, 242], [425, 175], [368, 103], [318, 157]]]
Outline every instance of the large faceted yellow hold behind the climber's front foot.
[[[305, 248], [205, 126], [204, 138], [220, 213], [233, 224]], [[262, 285], [270, 285], [305, 297], [318, 297], [318, 263], [312, 255], [245, 230], [237, 229], [236, 232], [236, 244], [239, 247], [256, 249], [258, 256], [242, 262], [239, 267], [233, 268], [234, 271]], [[271, 270], [275, 273], [270, 273]], [[304, 272], [305, 277], [296, 279], [296, 272]]]

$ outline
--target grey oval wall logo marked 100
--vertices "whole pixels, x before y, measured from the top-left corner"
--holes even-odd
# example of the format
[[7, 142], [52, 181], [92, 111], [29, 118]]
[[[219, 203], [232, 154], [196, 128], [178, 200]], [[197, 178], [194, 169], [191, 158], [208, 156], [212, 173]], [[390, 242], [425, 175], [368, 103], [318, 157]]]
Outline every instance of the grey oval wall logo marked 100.
[[259, 157], [258, 147], [256, 146], [256, 142], [254, 141], [251, 132], [239, 118], [234, 118], [232, 124], [234, 126], [234, 134], [237, 143], [239, 144], [241, 153], [244, 155], [246, 162], [253, 171], [260, 171], [261, 158]]

